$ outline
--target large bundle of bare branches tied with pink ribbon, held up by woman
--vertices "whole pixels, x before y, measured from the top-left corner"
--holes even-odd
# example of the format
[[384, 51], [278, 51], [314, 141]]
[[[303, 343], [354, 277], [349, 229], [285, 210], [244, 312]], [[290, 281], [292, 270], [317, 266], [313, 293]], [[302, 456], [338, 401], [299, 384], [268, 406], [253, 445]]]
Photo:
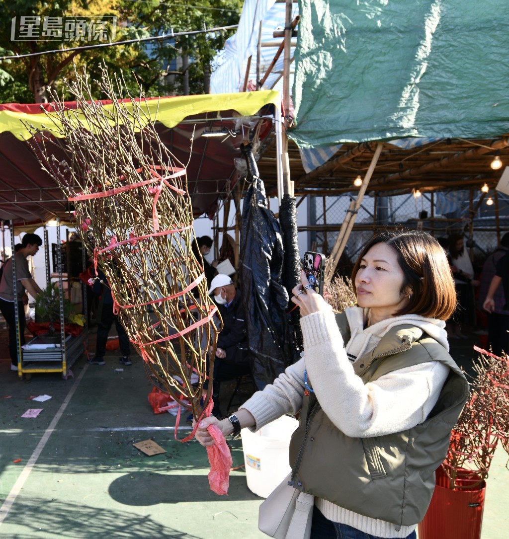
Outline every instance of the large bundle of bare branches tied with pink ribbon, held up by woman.
[[118, 100], [126, 88], [105, 68], [95, 84], [107, 102], [92, 99], [86, 73], [67, 83], [76, 108], [52, 95], [54, 112], [47, 115], [65, 160], [47, 149], [45, 133], [35, 150], [75, 205], [77, 230], [105, 273], [114, 308], [153, 382], [198, 419], [205, 356], [211, 347], [212, 363], [221, 322], [214, 321], [202, 261], [191, 248], [185, 167], [161, 142], [142, 96]]

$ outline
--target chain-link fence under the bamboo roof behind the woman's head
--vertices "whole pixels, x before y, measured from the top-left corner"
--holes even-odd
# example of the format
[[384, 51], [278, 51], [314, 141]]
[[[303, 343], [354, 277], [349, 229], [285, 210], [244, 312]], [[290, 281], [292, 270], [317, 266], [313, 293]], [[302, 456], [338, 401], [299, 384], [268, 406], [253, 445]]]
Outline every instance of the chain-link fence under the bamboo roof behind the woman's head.
[[[417, 194], [418, 195], [418, 194]], [[328, 254], [338, 238], [356, 192], [339, 197], [313, 197], [309, 201], [308, 244], [311, 250]], [[435, 194], [365, 196], [355, 225], [339, 262], [338, 272], [349, 275], [362, 246], [377, 229], [421, 229], [444, 242], [462, 233], [470, 249], [474, 268], [480, 271], [486, 257], [509, 231], [509, 197], [491, 191], [470, 190]], [[471, 211], [472, 208], [472, 211]]]

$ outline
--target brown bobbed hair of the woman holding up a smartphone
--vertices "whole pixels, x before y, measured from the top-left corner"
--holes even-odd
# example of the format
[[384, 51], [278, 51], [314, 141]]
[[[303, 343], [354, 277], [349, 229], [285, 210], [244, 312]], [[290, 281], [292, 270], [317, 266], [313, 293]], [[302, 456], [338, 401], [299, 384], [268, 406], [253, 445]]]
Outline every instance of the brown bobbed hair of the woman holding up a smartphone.
[[457, 295], [447, 255], [438, 241], [421, 230], [383, 231], [368, 241], [352, 272], [355, 294], [355, 275], [362, 258], [374, 245], [384, 243], [397, 253], [403, 274], [401, 292], [411, 288], [408, 303], [393, 316], [418, 314], [448, 320], [455, 312]]

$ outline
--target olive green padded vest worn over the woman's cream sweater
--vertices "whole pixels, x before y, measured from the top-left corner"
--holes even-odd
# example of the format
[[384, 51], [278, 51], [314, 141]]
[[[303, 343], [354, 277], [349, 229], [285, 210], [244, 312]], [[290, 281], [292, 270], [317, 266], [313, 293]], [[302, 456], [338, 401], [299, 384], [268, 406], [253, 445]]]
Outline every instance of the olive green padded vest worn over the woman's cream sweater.
[[[346, 315], [336, 316], [348, 342]], [[414, 326], [391, 328], [375, 349], [356, 362], [364, 383], [429, 361], [450, 368], [429, 417], [412, 429], [374, 438], [350, 438], [305, 396], [290, 444], [291, 484], [303, 492], [368, 516], [412, 526], [421, 522], [435, 488], [451, 429], [469, 393], [462, 371], [444, 347]]]

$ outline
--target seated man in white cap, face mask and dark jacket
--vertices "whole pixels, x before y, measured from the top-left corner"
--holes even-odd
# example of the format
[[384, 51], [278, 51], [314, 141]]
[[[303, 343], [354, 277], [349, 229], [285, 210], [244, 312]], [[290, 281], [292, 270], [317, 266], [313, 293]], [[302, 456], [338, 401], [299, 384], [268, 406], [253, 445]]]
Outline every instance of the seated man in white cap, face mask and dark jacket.
[[214, 383], [212, 384], [214, 410], [212, 414], [222, 417], [219, 409], [221, 382], [249, 374], [249, 350], [247, 349], [244, 305], [240, 291], [235, 289], [228, 275], [219, 273], [210, 284], [209, 295], [212, 294], [223, 319], [223, 329], [217, 337], [214, 360]]

